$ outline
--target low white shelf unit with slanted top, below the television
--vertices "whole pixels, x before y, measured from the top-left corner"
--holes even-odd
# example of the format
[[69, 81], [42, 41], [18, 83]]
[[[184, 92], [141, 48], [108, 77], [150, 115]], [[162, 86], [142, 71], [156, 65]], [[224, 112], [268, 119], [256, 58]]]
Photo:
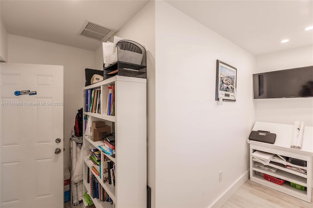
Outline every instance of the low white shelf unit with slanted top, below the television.
[[[266, 122], [256, 122], [253, 126], [254, 131], [266, 130], [276, 134], [276, 141], [274, 144], [267, 144], [262, 142], [250, 141], [250, 180], [266, 187], [284, 192], [293, 197], [299, 198], [306, 202], [311, 203], [312, 197], [312, 156], [313, 156], [313, 127], [305, 126], [303, 134], [303, 143], [301, 149], [291, 148], [291, 138], [293, 125], [275, 124]], [[265, 169], [255, 167], [253, 164], [256, 162], [252, 158], [252, 153], [256, 150], [264, 151], [272, 154], [278, 154], [285, 157], [296, 158], [304, 160], [307, 163], [307, 173], [297, 172], [285, 168], [284, 165], [273, 163], [271, 161], [268, 166], [277, 168], [277, 171], [270, 172]], [[292, 164], [288, 164], [291, 165]], [[264, 177], [257, 175], [256, 171], [285, 180], [285, 183], [280, 186], [273, 182], [267, 181]], [[290, 182], [306, 187], [305, 190], [299, 190], [291, 187]]]

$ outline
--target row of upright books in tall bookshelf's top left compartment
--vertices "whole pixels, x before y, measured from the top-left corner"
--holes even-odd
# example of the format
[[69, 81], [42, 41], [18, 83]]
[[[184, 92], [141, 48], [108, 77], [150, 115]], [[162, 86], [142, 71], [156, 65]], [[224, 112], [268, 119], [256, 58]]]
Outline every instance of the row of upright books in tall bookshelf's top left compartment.
[[91, 113], [101, 113], [101, 90], [96, 89], [86, 89], [86, 106], [85, 111]]

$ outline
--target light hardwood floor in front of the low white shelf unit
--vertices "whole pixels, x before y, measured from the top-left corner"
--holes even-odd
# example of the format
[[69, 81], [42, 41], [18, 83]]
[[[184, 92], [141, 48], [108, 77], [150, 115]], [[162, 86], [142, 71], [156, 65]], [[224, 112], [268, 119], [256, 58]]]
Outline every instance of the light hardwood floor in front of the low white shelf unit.
[[313, 208], [298, 198], [247, 180], [222, 208]]

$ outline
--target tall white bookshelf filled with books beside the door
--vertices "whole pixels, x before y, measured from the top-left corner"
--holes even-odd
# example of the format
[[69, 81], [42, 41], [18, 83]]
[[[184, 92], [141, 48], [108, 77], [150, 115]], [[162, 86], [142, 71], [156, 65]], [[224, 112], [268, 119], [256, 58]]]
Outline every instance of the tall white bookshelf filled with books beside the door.
[[[93, 198], [96, 208], [146, 208], [147, 206], [146, 82], [147, 80], [142, 78], [115, 76], [83, 89], [84, 116], [88, 115], [91, 121], [104, 121], [106, 125], [113, 127], [112, 132], [115, 133], [115, 157], [101, 152], [102, 159], [105, 155], [115, 164], [115, 186], [108, 182], [104, 183], [103, 178], [93, 174], [99, 185], [109, 194], [113, 204]], [[115, 116], [106, 115], [109, 85], [115, 85]], [[93, 88], [101, 90], [101, 114], [85, 112], [85, 90]], [[83, 139], [85, 193], [90, 191], [90, 184], [87, 183], [87, 167], [91, 171], [93, 166], [88, 159], [89, 149], [98, 148], [103, 145], [103, 142], [93, 142], [88, 135], [85, 136], [85, 131]], [[100, 171], [102, 168], [103, 166]]]

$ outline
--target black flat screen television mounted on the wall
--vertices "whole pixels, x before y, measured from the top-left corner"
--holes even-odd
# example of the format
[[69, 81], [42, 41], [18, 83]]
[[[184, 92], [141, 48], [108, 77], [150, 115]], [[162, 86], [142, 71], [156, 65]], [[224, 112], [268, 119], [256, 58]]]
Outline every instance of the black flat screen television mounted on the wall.
[[254, 99], [313, 97], [313, 66], [253, 74]]

